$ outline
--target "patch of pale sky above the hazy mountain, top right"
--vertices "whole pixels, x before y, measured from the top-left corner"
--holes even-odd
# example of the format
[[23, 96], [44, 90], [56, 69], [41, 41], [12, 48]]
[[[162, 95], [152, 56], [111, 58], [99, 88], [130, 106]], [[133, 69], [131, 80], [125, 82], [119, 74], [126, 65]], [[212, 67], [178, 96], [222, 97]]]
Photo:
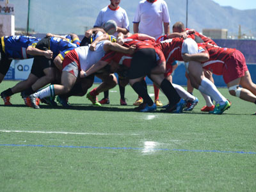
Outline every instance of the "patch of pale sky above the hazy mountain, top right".
[[256, 0], [212, 0], [220, 6], [232, 6], [238, 10], [256, 9]]

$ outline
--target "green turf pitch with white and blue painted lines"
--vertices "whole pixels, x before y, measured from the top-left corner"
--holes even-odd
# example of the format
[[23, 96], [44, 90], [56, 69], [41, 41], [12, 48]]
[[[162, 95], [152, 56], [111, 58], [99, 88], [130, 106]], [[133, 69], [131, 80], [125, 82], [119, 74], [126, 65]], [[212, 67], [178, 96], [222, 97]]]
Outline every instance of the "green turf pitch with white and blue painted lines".
[[182, 114], [134, 112], [130, 86], [128, 106], [118, 86], [102, 107], [86, 97], [71, 97], [70, 109], [27, 108], [19, 93], [13, 106], [1, 100], [0, 191], [255, 191], [256, 106], [220, 92], [232, 102], [223, 115], [202, 113], [197, 90], [200, 102]]

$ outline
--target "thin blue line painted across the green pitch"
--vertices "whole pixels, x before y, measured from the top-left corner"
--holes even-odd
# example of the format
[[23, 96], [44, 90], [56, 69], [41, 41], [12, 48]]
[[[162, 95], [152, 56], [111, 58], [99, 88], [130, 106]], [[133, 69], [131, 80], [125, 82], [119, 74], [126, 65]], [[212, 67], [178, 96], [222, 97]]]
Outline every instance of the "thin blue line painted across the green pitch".
[[[0, 144], [0, 146], [10, 147], [59, 147], [59, 148], [97, 148], [97, 149], [122, 149], [122, 150], [143, 150], [144, 148], [134, 147], [92, 147], [92, 146], [70, 146], [70, 145], [17, 145], [17, 144]], [[243, 152], [243, 151], [225, 151], [225, 150], [189, 150], [189, 149], [175, 149], [175, 148], [151, 148], [151, 151], [156, 150], [169, 150], [180, 152], [214, 152], [214, 153], [226, 153], [226, 154], [256, 154], [256, 152]]]

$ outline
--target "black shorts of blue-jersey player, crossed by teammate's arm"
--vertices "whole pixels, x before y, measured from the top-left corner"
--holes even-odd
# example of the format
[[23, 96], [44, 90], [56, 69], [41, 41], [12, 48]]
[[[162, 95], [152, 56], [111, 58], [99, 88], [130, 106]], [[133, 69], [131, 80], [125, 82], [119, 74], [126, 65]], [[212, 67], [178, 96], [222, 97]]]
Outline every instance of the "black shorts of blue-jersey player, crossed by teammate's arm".
[[[50, 38], [43, 38], [36, 44], [36, 48], [40, 50], [49, 50]], [[33, 65], [31, 68], [31, 74], [40, 78], [45, 76], [44, 69], [49, 67], [55, 67], [53, 60], [45, 58], [45, 56], [35, 56], [33, 60]]]

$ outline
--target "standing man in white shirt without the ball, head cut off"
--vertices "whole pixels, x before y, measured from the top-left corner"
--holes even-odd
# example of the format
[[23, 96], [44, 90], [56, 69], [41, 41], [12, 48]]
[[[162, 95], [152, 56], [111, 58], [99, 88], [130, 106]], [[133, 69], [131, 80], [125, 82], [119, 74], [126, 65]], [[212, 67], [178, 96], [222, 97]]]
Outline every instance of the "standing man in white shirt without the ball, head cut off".
[[[134, 33], [147, 34], [157, 39], [163, 35], [164, 26], [164, 35], [170, 34], [170, 16], [164, 0], [140, 1], [132, 22]], [[163, 106], [159, 100], [159, 88], [155, 84], [154, 92], [156, 105]], [[139, 98], [134, 105], [139, 105], [141, 102]]]

